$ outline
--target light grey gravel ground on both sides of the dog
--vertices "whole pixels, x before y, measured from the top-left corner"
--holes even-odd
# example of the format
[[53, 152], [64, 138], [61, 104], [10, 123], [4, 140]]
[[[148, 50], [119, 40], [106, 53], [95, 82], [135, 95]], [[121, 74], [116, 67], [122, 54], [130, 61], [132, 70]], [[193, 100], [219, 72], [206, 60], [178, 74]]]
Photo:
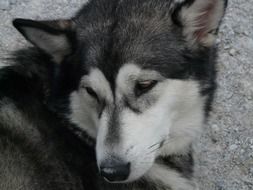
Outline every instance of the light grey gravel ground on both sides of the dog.
[[[12, 27], [13, 18], [68, 17], [84, 2], [85, 0], [0, 0], [0, 57], [27, 45]], [[229, 0], [217, 43], [220, 48], [219, 88], [211, 118], [196, 144], [196, 175], [201, 190], [252, 190], [252, 0]]]

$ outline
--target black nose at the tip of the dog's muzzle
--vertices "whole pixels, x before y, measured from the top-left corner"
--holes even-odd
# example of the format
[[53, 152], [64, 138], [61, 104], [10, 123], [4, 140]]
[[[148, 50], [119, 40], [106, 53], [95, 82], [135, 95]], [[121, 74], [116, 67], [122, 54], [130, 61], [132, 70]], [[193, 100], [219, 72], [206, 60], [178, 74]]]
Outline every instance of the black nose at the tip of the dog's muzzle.
[[100, 173], [109, 182], [125, 181], [130, 174], [130, 163], [118, 160], [106, 161], [101, 164]]

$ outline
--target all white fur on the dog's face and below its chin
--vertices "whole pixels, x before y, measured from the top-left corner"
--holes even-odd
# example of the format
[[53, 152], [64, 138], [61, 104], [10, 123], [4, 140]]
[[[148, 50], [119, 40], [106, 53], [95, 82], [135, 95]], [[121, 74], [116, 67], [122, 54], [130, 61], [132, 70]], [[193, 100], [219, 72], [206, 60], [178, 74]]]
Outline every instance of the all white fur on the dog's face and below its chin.
[[[147, 94], [136, 98], [133, 94], [136, 81], [157, 80], [158, 84]], [[106, 101], [106, 108], [98, 118], [98, 102], [82, 86], [91, 87]], [[134, 64], [123, 66], [116, 78], [116, 97], [113, 99], [108, 81], [99, 69], [93, 69], [82, 78], [80, 88], [71, 95], [71, 120], [90, 136], [96, 138], [97, 163], [100, 165], [110, 157], [118, 156], [131, 162], [131, 173], [127, 181], [142, 176], [152, 178], [175, 190], [194, 189], [187, 179], [175, 171], [155, 164], [159, 155], [184, 154], [199, 135], [203, 124], [204, 98], [199, 84], [194, 80], [173, 80], [158, 72], [144, 70]], [[124, 98], [131, 99], [141, 113], [122, 106]], [[146, 105], [146, 103], [150, 105]], [[119, 111], [119, 142], [106, 143], [111, 111]], [[160, 142], [165, 141], [162, 148]], [[174, 190], [173, 189], [173, 190]]]

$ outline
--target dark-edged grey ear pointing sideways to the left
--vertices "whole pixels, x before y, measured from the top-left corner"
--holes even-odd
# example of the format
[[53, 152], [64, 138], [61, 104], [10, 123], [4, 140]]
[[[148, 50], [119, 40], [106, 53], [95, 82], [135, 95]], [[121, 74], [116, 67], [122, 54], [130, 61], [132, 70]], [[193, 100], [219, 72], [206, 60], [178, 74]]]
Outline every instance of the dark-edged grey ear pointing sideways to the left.
[[51, 55], [57, 63], [73, 50], [75, 34], [71, 20], [15, 19], [13, 25], [28, 41]]

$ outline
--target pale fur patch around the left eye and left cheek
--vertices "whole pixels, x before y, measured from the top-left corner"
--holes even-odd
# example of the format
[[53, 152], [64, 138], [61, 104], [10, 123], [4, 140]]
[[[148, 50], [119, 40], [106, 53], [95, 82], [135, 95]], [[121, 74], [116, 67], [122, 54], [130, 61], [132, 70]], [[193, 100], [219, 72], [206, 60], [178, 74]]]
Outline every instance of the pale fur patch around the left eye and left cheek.
[[85, 87], [92, 88], [101, 100], [108, 103], [113, 101], [112, 93], [103, 73], [98, 69], [93, 69], [89, 75], [82, 78], [80, 88], [71, 94], [70, 120], [85, 130], [88, 135], [96, 138], [99, 126], [97, 110], [99, 103], [87, 93]]

